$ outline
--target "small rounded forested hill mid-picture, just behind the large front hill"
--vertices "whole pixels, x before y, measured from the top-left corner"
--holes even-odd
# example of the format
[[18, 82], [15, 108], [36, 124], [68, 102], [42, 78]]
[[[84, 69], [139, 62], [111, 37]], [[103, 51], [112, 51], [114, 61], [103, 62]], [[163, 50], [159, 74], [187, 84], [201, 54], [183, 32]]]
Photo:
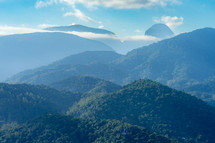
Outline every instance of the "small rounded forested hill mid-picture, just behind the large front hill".
[[73, 93], [109, 93], [121, 88], [119, 85], [112, 82], [89, 76], [73, 76], [52, 83], [50, 86], [58, 90], [70, 91]]

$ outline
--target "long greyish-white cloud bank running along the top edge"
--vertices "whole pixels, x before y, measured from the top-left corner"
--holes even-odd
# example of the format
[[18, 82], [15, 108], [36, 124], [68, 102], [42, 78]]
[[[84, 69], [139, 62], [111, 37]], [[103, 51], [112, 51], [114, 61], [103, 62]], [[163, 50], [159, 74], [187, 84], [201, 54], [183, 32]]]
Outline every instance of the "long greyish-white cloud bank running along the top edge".
[[150, 8], [155, 6], [165, 7], [167, 5], [181, 4], [180, 0], [46, 0], [37, 1], [36, 7], [45, 7], [54, 3], [67, 3], [69, 5], [75, 5], [80, 3], [86, 7], [107, 7], [115, 9], [138, 9], [138, 8]]

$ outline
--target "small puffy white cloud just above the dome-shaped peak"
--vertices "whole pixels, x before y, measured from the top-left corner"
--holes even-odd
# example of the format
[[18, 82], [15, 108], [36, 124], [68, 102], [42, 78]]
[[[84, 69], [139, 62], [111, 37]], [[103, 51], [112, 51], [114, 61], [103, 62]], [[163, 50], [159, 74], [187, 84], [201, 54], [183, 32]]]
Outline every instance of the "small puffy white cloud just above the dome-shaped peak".
[[184, 18], [183, 17], [171, 17], [171, 16], [162, 16], [161, 18], [154, 17], [154, 22], [157, 23], [165, 23], [171, 29], [175, 29], [176, 27], [183, 24]]

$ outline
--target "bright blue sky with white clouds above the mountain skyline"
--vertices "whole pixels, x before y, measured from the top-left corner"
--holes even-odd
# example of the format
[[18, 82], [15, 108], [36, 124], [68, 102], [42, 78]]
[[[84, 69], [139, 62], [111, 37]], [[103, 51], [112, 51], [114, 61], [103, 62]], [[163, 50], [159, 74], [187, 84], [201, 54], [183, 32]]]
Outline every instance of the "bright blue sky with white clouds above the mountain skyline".
[[155, 23], [175, 33], [215, 28], [215, 0], [0, 0], [0, 35], [82, 24], [125, 37]]

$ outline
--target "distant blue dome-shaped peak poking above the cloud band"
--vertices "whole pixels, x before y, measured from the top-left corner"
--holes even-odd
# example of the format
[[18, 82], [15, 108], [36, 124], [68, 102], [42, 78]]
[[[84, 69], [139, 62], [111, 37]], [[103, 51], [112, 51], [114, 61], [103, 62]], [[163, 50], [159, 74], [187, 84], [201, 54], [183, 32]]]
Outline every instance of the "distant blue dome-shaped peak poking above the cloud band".
[[173, 36], [174, 33], [167, 25], [159, 23], [146, 30], [145, 35], [163, 39]]

